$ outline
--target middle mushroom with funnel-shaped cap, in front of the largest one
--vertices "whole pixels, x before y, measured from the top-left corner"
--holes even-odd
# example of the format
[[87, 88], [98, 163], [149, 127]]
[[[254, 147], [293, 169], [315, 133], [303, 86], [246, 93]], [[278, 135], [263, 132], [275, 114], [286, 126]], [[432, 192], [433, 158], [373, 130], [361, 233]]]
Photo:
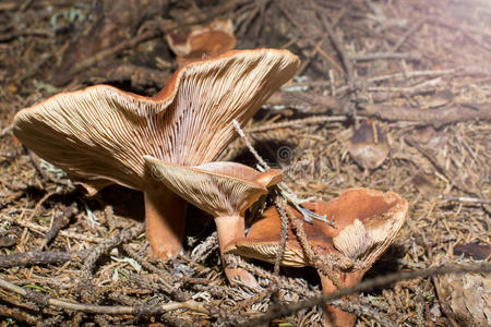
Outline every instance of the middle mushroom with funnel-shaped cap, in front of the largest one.
[[[244, 238], [244, 214], [267, 187], [282, 181], [282, 171], [270, 169], [260, 172], [248, 166], [217, 161], [194, 167], [165, 162], [145, 156], [156, 180], [215, 219], [220, 254], [236, 239]], [[223, 261], [225, 263], [225, 261]], [[230, 283], [238, 278], [243, 283], [255, 287], [252, 275], [239, 268], [225, 268]]]

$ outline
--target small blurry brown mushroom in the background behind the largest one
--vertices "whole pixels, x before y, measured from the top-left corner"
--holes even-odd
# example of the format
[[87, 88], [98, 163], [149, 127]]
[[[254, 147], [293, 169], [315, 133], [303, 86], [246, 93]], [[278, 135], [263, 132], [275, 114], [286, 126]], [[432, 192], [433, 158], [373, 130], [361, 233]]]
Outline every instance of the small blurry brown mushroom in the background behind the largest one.
[[169, 33], [166, 38], [179, 65], [221, 55], [236, 46], [231, 20], [216, 20], [207, 26], [197, 26], [189, 35]]

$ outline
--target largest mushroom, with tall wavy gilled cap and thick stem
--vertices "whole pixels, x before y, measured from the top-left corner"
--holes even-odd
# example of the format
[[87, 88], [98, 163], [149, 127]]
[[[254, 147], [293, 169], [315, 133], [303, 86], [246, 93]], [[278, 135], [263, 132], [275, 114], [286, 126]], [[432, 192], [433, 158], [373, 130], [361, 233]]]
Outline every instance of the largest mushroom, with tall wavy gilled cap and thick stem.
[[145, 170], [144, 155], [179, 165], [212, 161], [261, 104], [296, 72], [287, 50], [230, 51], [179, 69], [154, 97], [108, 85], [61, 93], [16, 113], [15, 136], [86, 185], [144, 192], [153, 253], [181, 250], [185, 202]]

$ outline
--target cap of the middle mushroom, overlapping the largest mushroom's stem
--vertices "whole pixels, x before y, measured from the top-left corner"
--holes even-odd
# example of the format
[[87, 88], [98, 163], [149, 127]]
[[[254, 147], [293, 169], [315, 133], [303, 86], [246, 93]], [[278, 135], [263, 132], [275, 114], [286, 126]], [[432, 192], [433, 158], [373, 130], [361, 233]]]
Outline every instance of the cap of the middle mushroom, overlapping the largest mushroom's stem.
[[282, 180], [280, 170], [260, 172], [237, 162], [185, 167], [149, 156], [145, 160], [156, 180], [214, 217], [243, 215], [268, 186]]

